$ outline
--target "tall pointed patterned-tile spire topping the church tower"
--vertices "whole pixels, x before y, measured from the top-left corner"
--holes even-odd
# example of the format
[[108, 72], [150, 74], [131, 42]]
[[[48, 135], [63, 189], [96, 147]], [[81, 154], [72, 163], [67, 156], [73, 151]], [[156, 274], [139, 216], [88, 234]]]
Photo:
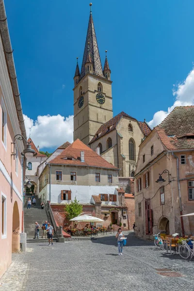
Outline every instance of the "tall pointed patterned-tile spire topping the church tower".
[[85, 41], [85, 49], [83, 53], [83, 61], [81, 65], [81, 78], [83, 78], [83, 76], [85, 75], [85, 63], [87, 61], [87, 56], [88, 56], [88, 43], [89, 43], [89, 54], [90, 54], [91, 62], [93, 64], [93, 74], [99, 77], [104, 77], [103, 72], [102, 72], [102, 65], [100, 61], [99, 50], [97, 46], [97, 37], [96, 37], [94, 22], [92, 18], [91, 6], [92, 6], [92, 3], [90, 3], [90, 17], [89, 17], [88, 31], [86, 35], [86, 41]]

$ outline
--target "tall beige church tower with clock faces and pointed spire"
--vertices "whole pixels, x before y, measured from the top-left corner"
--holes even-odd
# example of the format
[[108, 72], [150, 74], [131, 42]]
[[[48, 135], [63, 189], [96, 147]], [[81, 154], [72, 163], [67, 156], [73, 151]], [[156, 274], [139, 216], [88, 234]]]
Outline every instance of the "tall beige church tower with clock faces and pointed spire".
[[113, 118], [111, 70], [106, 55], [102, 71], [91, 6], [81, 73], [77, 62], [73, 89], [74, 141], [79, 138], [85, 145]]

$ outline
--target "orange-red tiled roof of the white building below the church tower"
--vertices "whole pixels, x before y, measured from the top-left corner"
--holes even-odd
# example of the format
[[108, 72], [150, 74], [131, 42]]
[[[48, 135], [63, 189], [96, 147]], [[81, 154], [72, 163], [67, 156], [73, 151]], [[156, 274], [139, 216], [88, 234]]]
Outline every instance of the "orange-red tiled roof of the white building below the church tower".
[[[84, 161], [81, 162], [80, 152], [84, 151]], [[71, 158], [71, 160], [65, 160], [64, 158]], [[73, 160], [72, 160], [73, 158]], [[77, 165], [77, 166], [91, 166], [98, 168], [107, 168], [118, 170], [112, 163], [107, 162], [90, 147], [83, 144], [79, 139], [73, 142], [70, 146], [67, 146], [57, 157], [50, 161], [53, 164], [63, 165]]]

